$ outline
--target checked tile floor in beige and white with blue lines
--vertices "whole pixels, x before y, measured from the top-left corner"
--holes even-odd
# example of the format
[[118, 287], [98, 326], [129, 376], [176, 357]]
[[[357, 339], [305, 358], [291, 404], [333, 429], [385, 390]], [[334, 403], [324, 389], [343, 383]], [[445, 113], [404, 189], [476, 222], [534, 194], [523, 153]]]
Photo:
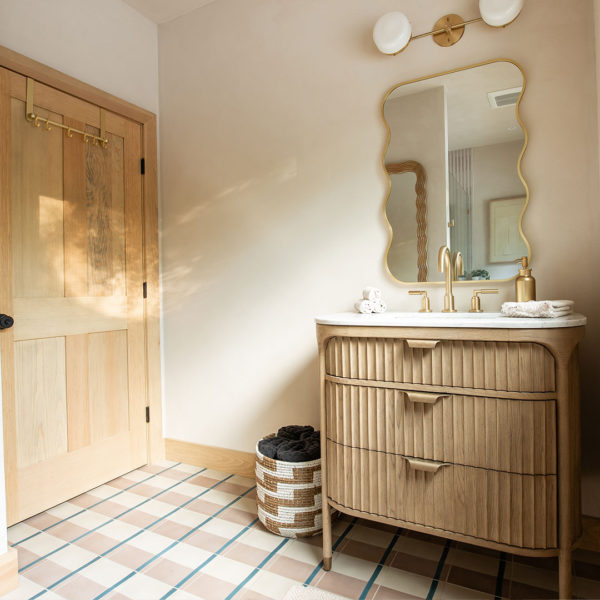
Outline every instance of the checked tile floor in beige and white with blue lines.
[[[494, 550], [409, 530], [396, 536], [396, 527], [346, 515], [334, 518], [325, 572], [320, 536], [286, 539], [256, 521], [253, 486], [172, 462], [126, 473], [9, 528], [24, 570], [6, 599], [277, 600], [307, 581], [365, 600], [556, 597], [556, 559], [501, 560]], [[574, 571], [575, 595], [600, 598], [600, 554], [578, 550]]]

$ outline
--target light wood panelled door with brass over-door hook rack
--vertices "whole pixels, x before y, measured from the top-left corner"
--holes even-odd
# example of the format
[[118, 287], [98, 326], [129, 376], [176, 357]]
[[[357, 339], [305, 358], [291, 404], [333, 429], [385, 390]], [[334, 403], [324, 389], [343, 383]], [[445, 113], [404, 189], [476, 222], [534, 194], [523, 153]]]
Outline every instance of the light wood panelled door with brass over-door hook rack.
[[[140, 125], [106, 148], [25, 118], [0, 69], [0, 332], [9, 524], [146, 463]], [[100, 109], [35, 84], [35, 112], [99, 134]]]

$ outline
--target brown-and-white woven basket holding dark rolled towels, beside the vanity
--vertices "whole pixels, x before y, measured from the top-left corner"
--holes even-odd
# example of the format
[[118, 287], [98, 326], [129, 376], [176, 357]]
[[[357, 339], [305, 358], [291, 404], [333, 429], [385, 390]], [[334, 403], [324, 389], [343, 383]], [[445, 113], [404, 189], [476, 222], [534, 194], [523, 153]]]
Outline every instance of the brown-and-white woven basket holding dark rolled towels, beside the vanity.
[[269, 531], [291, 538], [321, 533], [321, 459], [275, 460], [256, 444], [256, 499], [258, 518]]

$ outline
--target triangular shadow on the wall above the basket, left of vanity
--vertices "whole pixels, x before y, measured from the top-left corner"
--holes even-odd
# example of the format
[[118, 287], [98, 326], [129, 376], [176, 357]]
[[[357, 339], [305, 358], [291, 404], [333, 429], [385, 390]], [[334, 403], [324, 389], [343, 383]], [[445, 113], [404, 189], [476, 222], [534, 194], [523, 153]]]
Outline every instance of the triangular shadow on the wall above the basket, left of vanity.
[[[304, 401], [300, 403], [298, 398]], [[319, 360], [315, 356], [273, 394], [253, 421], [244, 423], [244, 429], [265, 436], [285, 425], [312, 425], [318, 429], [319, 422]]]

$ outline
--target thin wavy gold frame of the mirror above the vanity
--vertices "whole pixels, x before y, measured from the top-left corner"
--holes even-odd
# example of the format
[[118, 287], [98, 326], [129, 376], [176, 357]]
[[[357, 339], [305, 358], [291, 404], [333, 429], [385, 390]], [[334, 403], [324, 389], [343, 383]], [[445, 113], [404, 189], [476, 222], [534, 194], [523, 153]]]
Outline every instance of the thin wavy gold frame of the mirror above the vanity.
[[[494, 58], [491, 60], [486, 60], [483, 62], [479, 62], [479, 63], [475, 63], [473, 65], [467, 65], [465, 67], [458, 67], [456, 69], [451, 69], [449, 71], [441, 71], [439, 73], [434, 73], [433, 75], [426, 75], [424, 77], [417, 77], [415, 79], [409, 79], [408, 81], [403, 81], [401, 83], [398, 83], [396, 85], [394, 85], [392, 88], [390, 88], [385, 95], [383, 96], [383, 100], [381, 101], [381, 118], [383, 119], [383, 122], [385, 124], [385, 128], [387, 131], [387, 137], [386, 137], [386, 142], [385, 142], [385, 146], [383, 148], [383, 154], [382, 154], [382, 158], [381, 158], [381, 164], [383, 166], [383, 169], [386, 173], [387, 176], [387, 180], [388, 180], [388, 188], [387, 188], [387, 193], [385, 196], [385, 201], [383, 203], [383, 218], [385, 219], [385, 222], [387, 224], [388, 227], [388, 231], [389, 231], [389, 242], [385, 251], [385, 255], [383, 257], [383, 264], [384, 264], [384, 268], [385, 271], [388, 273], [388, 275], [397, 283], [401, 283], [401, 284], [405, 284], [405, 285], [414, 285], [416, 283], [418, 283], [419, 285], [423, 285], [423, 284], [427, 284], [427, 285], [436, 285], [436, 286], [442, 286], [445, 285], [444, 281], [402, 281], [401, 279], [398, 279], [391, 271], [390, 268], [388, 266], [388, 254], [390, 252], [390, 248], [392, 246], [392, 239], [393, 239], [393, 229], [392, 229], [392, 225], [389, 222], [388, 218], [387, 218], [387, 204], [388, 201], [390, 199], [390, 193], [392, 190], [392, 179], [390, 177], [390, 172], [388, 171], [388, 165], [385, 164], [385, 156], [387, 154], [388, 148], [390, 146], [390, 140], [392, 137], [392, 132], [390, 130], [390, 126], [388, 124], [388, 122], [385, 119], [385, 112], [384, 112], [384, 107], [385, 107], [385, 102], [388, 99], [388, 96], [396, 89], [398, 89], [399, 87], [403, 86], [403, 85], [408, 85], [410, 83], [417, 83], [418, 81], [425, 81], [426, 79], [433, 79], [434, 77], [441, 77], [442, 75], [450, 75], [451, 73], [458, 73], [459, 71], [466, 71], [468, 69], [475, 69], [477, 67], [483, 67], [485, 65], [490, 65], [493, 63], [497, 63], [497, 62], [507, 62], [507, 63], [511, 63], [513, 65], [515, 65], [515, 67], [517, 67], [517, 69], [519, 69], [519, 71], [521, 72], [521, 75], [523, 76], [523, 88], [521, 90], [521, 93], [519, 94], [519, 98], [517, 100], [517, 104], [515, 106], [515, 116], [517, 118], [517, 122], [519, 123], [519, 125], [521, 126], [521, 128], [523, 129], [523, 134], [524, 134], [524, 139], [523, 139], [523, 148], [521, 149], [521, 153], [519, 154], [519, 160], [517, 161], [517, 174], [519, 175], [519, 179], [521, 180], [521, 183], [523, 184], [523, 187], [525, 188], [525, 204], [523, 205], [523, 210], [521, 211], [521, 216], [519, 217], [519, 234], [521, 235], [521, 238], [523, 239], [523, 242], [525, 242], [525, 245], [527, 246], [527, 257], [529, 260], [529, 264], [531, 264], [531, 259], [532, 259], [532, 252], [531, 252], [531, 244], [529, 243], [529, 240], [525, 237], [525, 233], [523, 232], [523, 215], [525, 214], [525, 211], [527, 210], [527, 207], [529, 206], [529, 186], [527, 185], [527, 182], [525, 181], [525, 178], [523, 177], [523, 173], [521, 171], [521, 162], [523, 160], [523, 155], [525, 154], [525, 150], [527, 149], [527, 145], [529, 143], [529, 133], [527, 131], [527, 127], [525, 127], [525, 123], [523, 123], [523, 121], [521, 120], [521, 115], [519, 114], [519, 107], [521, 105], [521, 99], [523, 98], [523, 94], [525, 93], [525, 89], [527, 87], [527, 77], [525, 76], [525, 71], [523, 70], [523, 67], [516, 61], [511, 60], [510, 58]], [[415, 162], [415, 161], [407, 161], [407, 162]], [[402, 163], [400, 163], [402, 164]], [[418, 164], [418, 163], [417, 163]], [[416, 189], [416, 188], [415, 188]], [[426, 192], [425, 192], [426, 193]], [[425, 223], [425, 227], [426, 227], [426, 223]], [[425, 239], [427, 239], [427, 233], [425, 231]], [[427, 256], [427, 254], [425, 254], [425, 256]], [[419, 271], [420, 273], [420, 271]], [[503, 283], [503, 282], [507, 282], [507, 281], [514, 281], [518, 276], [518, 272], [515, 273], [512, 277], [508, 277], [506, 279], [489, 279], [487, 281], [489, 282], [497, 282], [497, 283]], [[478, 284], [481, 285], [481, 281], [477, 282]], [[473, 281], [467, 280], [467, 281], [460, 281], [460, 280], [456, 280], [454, 281], [455, 285], [473, 285]]]

